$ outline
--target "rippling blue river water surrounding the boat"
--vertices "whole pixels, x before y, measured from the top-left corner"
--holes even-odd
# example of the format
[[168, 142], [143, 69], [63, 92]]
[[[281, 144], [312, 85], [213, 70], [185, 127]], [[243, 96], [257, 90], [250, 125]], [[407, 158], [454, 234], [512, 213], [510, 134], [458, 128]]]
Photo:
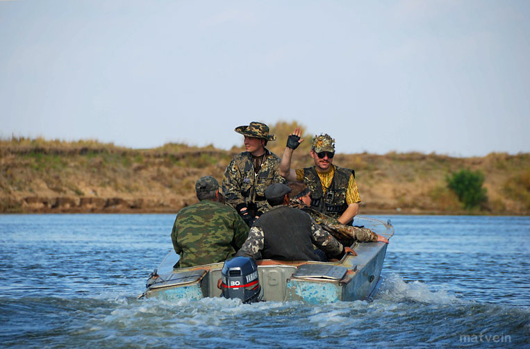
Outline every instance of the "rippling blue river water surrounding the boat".
[[530, 348], [530, 217], [391, 219], [373, 300], [138, 300], [174, 214], [0, 215], [0, 348]]

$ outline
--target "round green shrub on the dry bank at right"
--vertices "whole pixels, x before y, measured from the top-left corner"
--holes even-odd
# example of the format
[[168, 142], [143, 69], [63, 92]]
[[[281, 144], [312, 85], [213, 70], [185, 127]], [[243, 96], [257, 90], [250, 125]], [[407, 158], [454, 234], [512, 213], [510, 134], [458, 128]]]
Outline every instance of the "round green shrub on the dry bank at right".
[[481, 206], [488, 201], [486, 188], [483, 188], [484, 175], [481, 171], [461, 169], [446, 177], [447, 187], [458, 196], [458, 201], [466, 210]]

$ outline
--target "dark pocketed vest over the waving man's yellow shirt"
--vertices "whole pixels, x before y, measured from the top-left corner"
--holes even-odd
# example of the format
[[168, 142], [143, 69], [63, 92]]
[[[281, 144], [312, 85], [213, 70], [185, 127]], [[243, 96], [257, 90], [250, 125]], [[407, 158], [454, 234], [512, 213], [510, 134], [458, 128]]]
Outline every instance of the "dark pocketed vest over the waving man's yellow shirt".
[[322, 183], [320, 182], [320, 177], [317, 175], [315, 167], [304, 168], [304, 182], [311, 191], [310, 207], [333, 218], [337, 219], [340, 217], [348, 208], [346, 193], [348, 190], [349, 176], [351, 174], [355, 178], [354, 170], [335, 166], [333, 180], [331, 180], [331, 185], [327, 189], [326, 194], [324, 194]]

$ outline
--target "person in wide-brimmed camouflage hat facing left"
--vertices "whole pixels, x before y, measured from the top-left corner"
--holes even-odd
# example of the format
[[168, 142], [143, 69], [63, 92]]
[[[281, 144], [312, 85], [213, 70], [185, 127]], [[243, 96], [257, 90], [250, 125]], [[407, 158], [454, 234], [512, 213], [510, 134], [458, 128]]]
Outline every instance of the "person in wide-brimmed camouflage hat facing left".
[[247, 126], [235, 128], [235, 132], [245, 136], [245, 150], [235, 155], [224, 172], [222, 188], [224, 200], [239, 212], [248, 225], [251, 225], [263, 212], [267, 211], [265, 189], [274, 182], [285, 180], [280, 176], [280, 158], [265, 146], [276, 140], [269, 134], [269, 126], [252, 121]]

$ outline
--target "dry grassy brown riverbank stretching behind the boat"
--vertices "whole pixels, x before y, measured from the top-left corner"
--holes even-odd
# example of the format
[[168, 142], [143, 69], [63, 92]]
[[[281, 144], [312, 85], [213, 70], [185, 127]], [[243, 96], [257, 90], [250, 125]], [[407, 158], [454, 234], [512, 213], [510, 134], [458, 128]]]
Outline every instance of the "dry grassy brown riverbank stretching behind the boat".
[[[296, 126], [272, 126], [279, 141], [268, 147], [281, 156], [285, 139]], [[304, 132], [304, 138], [293, 167], [311, 164], [310, 135]], [[135, 150], [91, 140], [0, 140], [0, 212], [177, 212], [196, 202], [197, 178], [212, 175], [221, 181], [232, 156], [240, 151], [185, 144]], [[334, 163], [355, 169], [363, 214], [530, 213], [527, 153], [491, 153], [483, 158], [338, 154]], [[488, 202], [480, 210], [463, 210], [447, 188], [447, 174], [463, 168], [486, 176]]]

